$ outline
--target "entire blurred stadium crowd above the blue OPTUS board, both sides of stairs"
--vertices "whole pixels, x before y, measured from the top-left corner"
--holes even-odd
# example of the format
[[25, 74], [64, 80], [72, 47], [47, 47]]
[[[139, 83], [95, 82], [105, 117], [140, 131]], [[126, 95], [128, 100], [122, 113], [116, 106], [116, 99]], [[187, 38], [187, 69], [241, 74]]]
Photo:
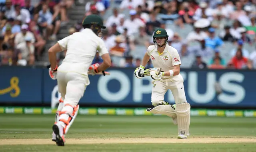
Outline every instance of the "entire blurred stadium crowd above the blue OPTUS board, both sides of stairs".
[[[31, 65], [67, 23], [66, 10], [74, 0], [41, 0], [37, 6], [30, 6], [30, 0], [0, 3], [1, 63]], [[256, 0], [90, 0], [84, 7], [84, 17], [104, 19], [102, 39], [112, 66], [138, 67], [153, 45], [154, 29], [161, 27], [169, 35], [168, 45], [178, 50], [182, 68], [256, 68]], [[82, 19], [69, 34], [81, 30]], [[97, 62], [102, 62], [98, 54]]]

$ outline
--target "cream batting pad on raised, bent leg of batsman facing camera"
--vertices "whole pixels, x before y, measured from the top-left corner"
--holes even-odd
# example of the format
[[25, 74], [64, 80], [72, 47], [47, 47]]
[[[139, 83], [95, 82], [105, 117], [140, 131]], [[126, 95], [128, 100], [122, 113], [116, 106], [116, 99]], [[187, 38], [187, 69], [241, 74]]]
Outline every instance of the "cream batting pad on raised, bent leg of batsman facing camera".
[[171, 105], [158, 105], [150, 110], [147, 109], [147, 111], [154, 114], [162, 114], [169, 117], [176, 117], [175, 110], [172, 108]]

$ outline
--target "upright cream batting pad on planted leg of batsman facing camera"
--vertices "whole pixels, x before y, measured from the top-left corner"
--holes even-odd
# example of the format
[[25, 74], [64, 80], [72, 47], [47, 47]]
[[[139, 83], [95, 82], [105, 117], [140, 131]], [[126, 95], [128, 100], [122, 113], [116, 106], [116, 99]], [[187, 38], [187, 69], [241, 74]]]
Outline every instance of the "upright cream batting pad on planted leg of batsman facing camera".
[[176, 104], [176, 115], [178, 123], [178, 135], [189, 134], [190, 125], [190, 104], [189, 103], [178, 103]]

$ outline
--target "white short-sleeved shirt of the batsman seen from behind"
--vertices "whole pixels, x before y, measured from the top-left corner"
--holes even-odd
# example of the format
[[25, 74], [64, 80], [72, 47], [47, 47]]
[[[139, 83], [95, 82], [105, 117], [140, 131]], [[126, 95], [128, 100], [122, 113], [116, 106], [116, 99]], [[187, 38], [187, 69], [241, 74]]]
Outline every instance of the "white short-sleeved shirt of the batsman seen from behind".
[[76, 72], [88, 76], [88, 68], [98, 50], [100, 56], [108, 53], [103, 40], [91, 29], [83, 29], [58, 41], [66, 57], [58, 67], [61, 72]]

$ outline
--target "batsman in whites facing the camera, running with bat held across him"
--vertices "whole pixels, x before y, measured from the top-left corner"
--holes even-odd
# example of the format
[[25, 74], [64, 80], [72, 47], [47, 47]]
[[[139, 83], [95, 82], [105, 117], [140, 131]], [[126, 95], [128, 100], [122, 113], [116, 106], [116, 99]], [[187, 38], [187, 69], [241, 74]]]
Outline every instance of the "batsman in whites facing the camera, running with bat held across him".
[[[186, 100], [184, 80], [180, 75], [180, 56], [176, 49], [167, 44], [168, 35], [165, 29], [156, 29], [153, 41], [154, 45], [148, 47], [142, 65], [136, 68], [134, 74], [137, 78], [144, 77], [141, 72], [145, 70], [150, 58], [155, 68], [162, 68], [163, 71], [159, 75], [156, 75], [155, 71], [150, 72], [154, 84], [151, 96], [153, 107], [147, 111], [172, 117], [174, 124], [178, 125], [178, 138], [186, 139], [189, 135], [190, 104]], [[164, 101], [164, 94], [168, 89], [172, 91], [176, 105]]]

